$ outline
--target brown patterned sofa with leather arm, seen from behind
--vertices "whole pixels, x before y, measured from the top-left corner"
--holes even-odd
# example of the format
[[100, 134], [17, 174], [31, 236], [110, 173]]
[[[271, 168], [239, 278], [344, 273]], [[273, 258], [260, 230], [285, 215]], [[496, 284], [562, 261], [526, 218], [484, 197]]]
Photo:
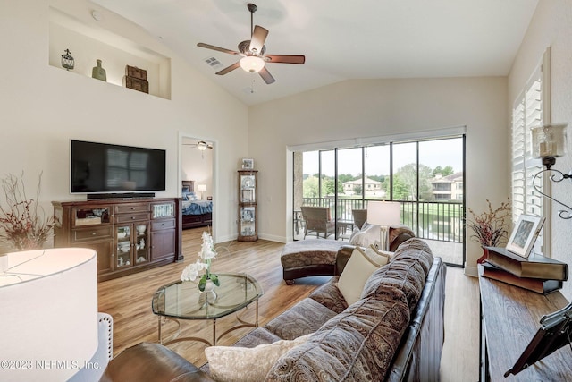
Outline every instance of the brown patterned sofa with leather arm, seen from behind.
[[[352, 252], [349, 246], [339, 250], [337, 275]], [[248, 373], [262, 367], [265, 356], [272, 353], [264, 346], [294, 340], [299, 343], [278, 356], [263, 378], [250, 375], [246, 380], [437, 381], [444, 340], [445, 273], [442, 259], [433, 258], [425, 242], [410, 239], [389, 264], [369, 276], [357, 302], [348, 306], [337, 286], [339, 276], [333, 276], [229, 348], [241, 346], [239, 357], [240, 352], [262, 348], [254, 364], [220, 354], [214, 360], [224, 361], [230, 369], [228, 380], [238, 381], [242, 369]], [[214, 364], [210, 370], [209, 365], [198, 369], [160, 344], [143, 343], [111, 361], [102, 380], [210, 381], [215, 376]]]

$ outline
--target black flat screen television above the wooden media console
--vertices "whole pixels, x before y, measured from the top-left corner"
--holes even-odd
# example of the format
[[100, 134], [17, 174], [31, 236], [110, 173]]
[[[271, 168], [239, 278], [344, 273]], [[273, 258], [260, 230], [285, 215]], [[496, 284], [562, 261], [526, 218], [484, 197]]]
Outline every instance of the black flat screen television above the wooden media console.
[[71, 140], [71, 193], [165, 190], [164, 149]]

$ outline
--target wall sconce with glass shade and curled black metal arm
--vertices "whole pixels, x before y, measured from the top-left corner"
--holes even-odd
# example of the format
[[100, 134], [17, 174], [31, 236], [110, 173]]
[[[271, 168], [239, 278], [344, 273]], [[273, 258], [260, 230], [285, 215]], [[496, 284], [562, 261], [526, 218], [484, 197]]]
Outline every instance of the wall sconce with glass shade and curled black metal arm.
[[543, 173], [552, 172], [555, 174], [550, 175], [550, 180], [552, 182], [562, 182], [564, 179], [572, 179], [572, 171], [569, 174], [564, 174], [559, 170], [554, 170], [551, 168], [556, 163], [557, 157], [562, 157], [566, 154], [566, 127], [567, 124], [554, 124], [534, 127], [531, 129], [532, 132], [532, 150], [533, 157], [541, 158], [543, 160], [543, 166], [546, 166], [545, 170], [539, 171], [534, 175], [533, 187], [534, 190], [544, 198], [551, 199], [552, 201], [558, 203], [560, 206], [568, 208], [567, 210], [560, 210], [559, 216], [563, 219], [572, 218], [572, 208], [562, 203], [561, 201], [546, 195], [543, 191], [540, 191], [536, 187], [536, 178], [540, 177]]

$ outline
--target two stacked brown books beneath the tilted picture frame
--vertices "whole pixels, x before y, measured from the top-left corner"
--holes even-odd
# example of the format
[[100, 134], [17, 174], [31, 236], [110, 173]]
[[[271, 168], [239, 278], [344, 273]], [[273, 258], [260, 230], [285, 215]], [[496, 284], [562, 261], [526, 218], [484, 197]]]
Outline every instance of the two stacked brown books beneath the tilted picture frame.
[[558, 291], [568, 280], [568, 264], [559, 260], [531, 255], [528, 259], [499, 247], [486, 247], [488, 258], [479, 267], [479, 275], [535, 293]]

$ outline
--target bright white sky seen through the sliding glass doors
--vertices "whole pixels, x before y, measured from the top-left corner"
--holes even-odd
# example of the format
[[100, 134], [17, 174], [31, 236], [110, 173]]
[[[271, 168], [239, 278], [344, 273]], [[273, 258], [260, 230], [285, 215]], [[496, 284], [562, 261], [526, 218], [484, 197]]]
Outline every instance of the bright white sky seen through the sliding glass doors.
[[[333, 150], [322, 152], [322, 174], [333, 176]], [[390, 147], [366, 148], [365, 168], [368, 175], [390, 174]], [[416, 162], [416, 142], [393, 145], [394, 169]], [[427, 140], [419, 143], [419, 163], [432, 169], [437, 166], [451, 166], [455, 173], [463, 171], [463, 140]], [[304, 174], [318, 172], [318, 151], [304, 153]], [[357, 175], [361, 170], [361, 148], [338, 150], [338, 174]]]

